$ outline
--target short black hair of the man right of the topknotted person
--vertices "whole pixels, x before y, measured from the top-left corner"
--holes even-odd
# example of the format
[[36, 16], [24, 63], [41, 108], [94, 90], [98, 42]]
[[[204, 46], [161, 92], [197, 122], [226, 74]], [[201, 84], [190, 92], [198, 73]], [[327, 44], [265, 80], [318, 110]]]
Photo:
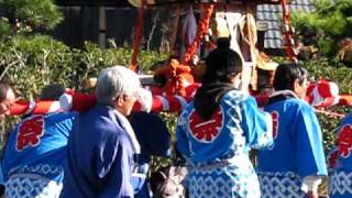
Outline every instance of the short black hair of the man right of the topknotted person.
[[275, 90], [294, 90], [296, 79], [302, 84], [307, 78], [308, 72], [300, 64], [280, 64], [275, 70], [273, 86]]

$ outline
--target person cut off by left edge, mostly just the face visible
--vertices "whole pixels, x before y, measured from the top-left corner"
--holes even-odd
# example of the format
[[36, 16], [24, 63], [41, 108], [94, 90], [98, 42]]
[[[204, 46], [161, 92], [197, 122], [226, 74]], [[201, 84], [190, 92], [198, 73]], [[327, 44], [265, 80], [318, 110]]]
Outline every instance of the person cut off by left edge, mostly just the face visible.
[[[0, 118], [10, 113], [11, 106], [15, 100], [14, 91], [7, 84], [0, 82]], [[4, 194], [4, 180], [0, 164], [0, 197]]]

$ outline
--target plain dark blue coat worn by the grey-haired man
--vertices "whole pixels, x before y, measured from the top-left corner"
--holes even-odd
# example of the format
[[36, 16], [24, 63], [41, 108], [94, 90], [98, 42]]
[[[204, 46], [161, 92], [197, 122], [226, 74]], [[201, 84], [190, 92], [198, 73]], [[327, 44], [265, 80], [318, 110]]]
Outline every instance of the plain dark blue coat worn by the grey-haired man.
[[61, 197], [133, 197], [134, 151], [122, 123], [113, 108], [99, 103], [77, 116]]

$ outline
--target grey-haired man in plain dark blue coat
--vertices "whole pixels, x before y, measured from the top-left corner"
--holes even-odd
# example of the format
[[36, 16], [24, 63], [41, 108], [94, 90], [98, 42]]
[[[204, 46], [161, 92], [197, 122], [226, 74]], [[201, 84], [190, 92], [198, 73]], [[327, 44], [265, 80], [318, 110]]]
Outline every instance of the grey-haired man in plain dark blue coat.
[[133, 197], [133, 156], [140, 153], [127, 120], [141, 82], [123, 66], [102, 70], [97, 105], [80, 112], [69, 136], [61, 197]]

